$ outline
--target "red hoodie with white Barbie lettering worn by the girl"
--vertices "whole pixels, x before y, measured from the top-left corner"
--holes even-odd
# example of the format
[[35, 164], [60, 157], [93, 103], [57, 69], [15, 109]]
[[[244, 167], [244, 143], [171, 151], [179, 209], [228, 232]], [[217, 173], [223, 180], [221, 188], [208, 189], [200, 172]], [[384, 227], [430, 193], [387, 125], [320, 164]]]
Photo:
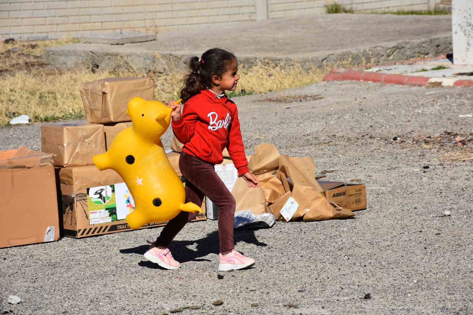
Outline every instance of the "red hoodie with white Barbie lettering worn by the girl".
[[208, 89], [201, 90], [185, 103], [181, 119], [171, 125], [177, 140], [184, 144], [183, 152], [220, 164], [227, 148], [238, 175], [249, 172], [238, 110], [227, 96], [219, 98]]

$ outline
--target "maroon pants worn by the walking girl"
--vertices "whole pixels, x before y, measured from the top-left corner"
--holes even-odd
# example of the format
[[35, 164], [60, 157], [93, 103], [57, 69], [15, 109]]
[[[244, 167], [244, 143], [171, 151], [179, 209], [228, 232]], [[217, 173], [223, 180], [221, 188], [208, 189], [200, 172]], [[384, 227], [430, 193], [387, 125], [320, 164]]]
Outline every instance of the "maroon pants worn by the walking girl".
[[[235, 198], [215, 173], [213, 165], [200, 158], [182, 152], [179, 157], [179, 170], [186, 180], [185, 202], [201, 205], [204, 196], [207, 196], [219, 207], [220, 253], [222, 255], [230, 253], [235, 247], [233, 242]], [[195, 219], [197, 214], [198, 212], [181, 211], [177, 217], [169, 220], [156, 239], [156, 245], [169, 246], [177, 233], [187, 222]]]

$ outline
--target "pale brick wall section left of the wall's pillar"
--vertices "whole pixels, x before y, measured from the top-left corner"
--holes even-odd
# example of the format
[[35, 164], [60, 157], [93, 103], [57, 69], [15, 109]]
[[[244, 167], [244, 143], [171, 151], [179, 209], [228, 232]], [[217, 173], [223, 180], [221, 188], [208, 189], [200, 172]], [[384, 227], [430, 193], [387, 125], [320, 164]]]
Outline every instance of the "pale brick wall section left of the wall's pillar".
[[0, 36], [61, 38], [121, 30], [162, 33], [254, 21], [255, 1], [0, 0]]

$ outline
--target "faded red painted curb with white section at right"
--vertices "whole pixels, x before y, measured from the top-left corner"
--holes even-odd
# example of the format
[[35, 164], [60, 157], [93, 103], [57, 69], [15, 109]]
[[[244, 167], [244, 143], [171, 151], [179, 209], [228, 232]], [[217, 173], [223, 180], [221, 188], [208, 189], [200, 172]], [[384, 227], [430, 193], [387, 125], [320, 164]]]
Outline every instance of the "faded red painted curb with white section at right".
[[455, 78], [427, 78], [419, 76], [406, 76], [403, 74], [390, 74], [370, 71], [330, 71], [324, 76], [323, 81], [368, 81], [384, 84], [402, 84], [425, 86], [429, 83], [441, 82], [445, 87], [467, 87], [473, 86], [473, 80], [455, 79]]

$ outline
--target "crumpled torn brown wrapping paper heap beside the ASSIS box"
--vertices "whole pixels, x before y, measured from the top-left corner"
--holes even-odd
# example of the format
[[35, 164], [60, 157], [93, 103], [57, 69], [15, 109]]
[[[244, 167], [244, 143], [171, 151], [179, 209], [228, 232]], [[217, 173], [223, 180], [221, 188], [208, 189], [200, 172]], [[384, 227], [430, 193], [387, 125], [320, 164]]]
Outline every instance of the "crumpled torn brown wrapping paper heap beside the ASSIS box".
[[[262, 143], [254, 148], [254, 155], [251, 157], [248, 167], [254, 174], [263, 178], [271, 177], [266, 174], [273, 175], [272, 172], [277, 169], [277, 177], [275, 178], [281, 183], [285, 192], [269, 206], [270, 211], [277, 219], [281, 219], [279, 211], [289, 196], [292, 196], [299, 204], [299, 208], [291, 220], [319, 221], [354, 216], [351, 210], [343, 209], [327, 200], [324, 190], [315, 180], [315, 164], [311, 157], [280, 155], [274, 145]], [[286, 178], [290, 178], [292, 185], [288, 183]], [[262, 187], [266, 184], [265, 182]], [[274, 187], [279, 186], [275, 185]], [[279, 189], [273, 190], [280, 192]]]

